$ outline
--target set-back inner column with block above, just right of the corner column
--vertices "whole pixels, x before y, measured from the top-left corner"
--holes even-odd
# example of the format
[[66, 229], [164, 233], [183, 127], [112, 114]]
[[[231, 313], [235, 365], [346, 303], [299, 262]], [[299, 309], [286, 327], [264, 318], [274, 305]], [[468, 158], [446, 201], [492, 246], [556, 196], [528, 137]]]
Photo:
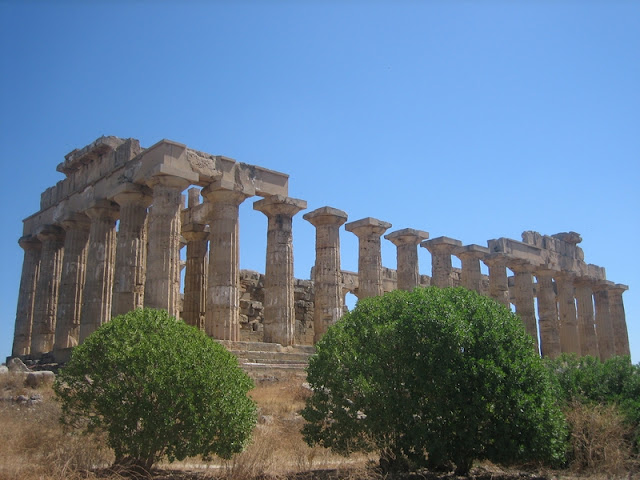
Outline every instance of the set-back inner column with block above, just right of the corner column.
[[[189, 189], [189, 208], [200, 205], [200, 190]], [[198, 222], [182, 225], [182, 236], [187, 241], [187, 265], [184, 275], [184, 301], [182, 319], [204, 331], [207, 311], [207, 246], [209, 227]]]

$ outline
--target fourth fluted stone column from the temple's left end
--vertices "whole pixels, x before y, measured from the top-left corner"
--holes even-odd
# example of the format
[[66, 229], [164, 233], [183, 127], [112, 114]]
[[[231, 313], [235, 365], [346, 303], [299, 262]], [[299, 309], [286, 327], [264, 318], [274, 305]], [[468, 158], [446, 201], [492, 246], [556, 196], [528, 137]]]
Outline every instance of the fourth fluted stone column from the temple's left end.
[[111, 319], [118, 205], [98, 200], [85, 213], [91, 218], [91, 227], [79, 343]]

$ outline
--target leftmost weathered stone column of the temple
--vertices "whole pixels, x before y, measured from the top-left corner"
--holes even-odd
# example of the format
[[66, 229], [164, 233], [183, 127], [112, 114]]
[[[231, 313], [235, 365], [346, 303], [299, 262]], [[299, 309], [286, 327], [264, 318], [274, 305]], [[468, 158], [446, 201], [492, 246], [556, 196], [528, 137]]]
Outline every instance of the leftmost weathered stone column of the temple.
[[22, 261], [16, 327], [11, 350], [13, 356], [28, 355], [31, 352], [31, 327], [33, 326], [34, 300], [42, 246], [35, 235], [21, 237], [18, 244], [24, 250], [24, 260]]

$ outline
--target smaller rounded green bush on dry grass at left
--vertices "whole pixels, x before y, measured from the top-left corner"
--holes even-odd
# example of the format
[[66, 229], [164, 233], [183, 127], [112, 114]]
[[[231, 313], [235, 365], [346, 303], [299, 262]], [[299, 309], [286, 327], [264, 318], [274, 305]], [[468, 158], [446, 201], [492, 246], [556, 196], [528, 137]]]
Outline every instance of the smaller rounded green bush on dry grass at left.
[[54, 390], [62, 422], [103, 430], [116, 464], [243, 450], [255, 426], [253, 387], [237, 359], [164, 310], [114, 318], [73, 351]]

